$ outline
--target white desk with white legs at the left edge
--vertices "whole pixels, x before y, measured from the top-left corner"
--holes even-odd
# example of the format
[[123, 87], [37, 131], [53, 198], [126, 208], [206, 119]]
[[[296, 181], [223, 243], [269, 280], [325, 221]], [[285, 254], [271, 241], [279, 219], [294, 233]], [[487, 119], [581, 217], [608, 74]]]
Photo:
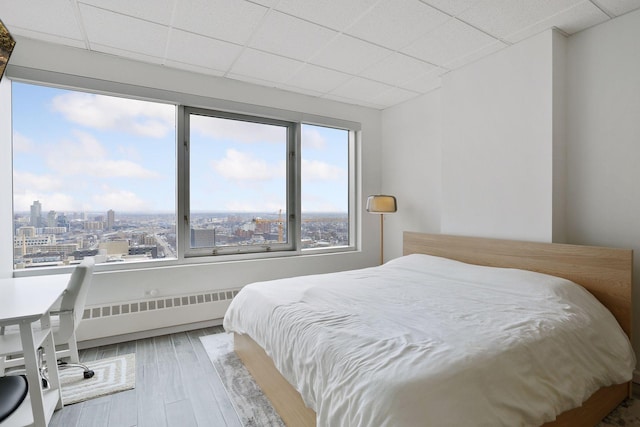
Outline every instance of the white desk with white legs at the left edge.
[[[0, 335], [0, 357], [23, 353], [29, 381], [29, 396], [18, 411], [0, 424], [2, 427], [44, 427], [53, 411], [62, 408], [49, 310], [66, 289], [70, 277], [70, 274], [56, 274], [0, 279], [0, 326], [20, 325], [19, 337]], [[31, 325], [37, 321], [42, 330], [34, 332]], [[38, 371], [39, 347], [44, 348], [49, 373], [49, 387], [44, 390]]]

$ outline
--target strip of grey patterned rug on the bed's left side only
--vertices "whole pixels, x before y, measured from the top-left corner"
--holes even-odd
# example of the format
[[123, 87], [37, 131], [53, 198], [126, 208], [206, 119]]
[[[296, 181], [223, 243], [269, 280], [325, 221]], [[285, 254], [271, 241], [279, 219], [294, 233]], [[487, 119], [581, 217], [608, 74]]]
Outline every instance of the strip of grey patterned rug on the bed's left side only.
[[200, 337], [200, 341], [220, 376], [242, 425], [285, 427], [269, 399], [233, 351], [232, 335], [207, 335]]

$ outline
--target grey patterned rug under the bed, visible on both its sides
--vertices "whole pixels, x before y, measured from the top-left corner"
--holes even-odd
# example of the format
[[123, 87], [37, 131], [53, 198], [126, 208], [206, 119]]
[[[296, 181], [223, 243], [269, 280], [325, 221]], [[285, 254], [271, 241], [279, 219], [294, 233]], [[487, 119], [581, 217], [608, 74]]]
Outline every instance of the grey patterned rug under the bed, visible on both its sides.
[[[200, 340], [233, 402], [242, 425], [245, 427], [284, 426], [269, 399], [262, 393], [233, 351], [232, 335], [219, 333], [201, 337]], [[597, 427], [620, 426], [640, 427], [639, 399], [624, 401], [597, 425]]]

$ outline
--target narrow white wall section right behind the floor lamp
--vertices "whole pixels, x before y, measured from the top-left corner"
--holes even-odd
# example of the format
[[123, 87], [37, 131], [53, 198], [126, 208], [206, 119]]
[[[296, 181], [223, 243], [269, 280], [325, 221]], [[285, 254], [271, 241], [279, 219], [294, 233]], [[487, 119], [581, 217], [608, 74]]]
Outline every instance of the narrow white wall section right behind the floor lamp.
[[440, 232], [442, 208], [441, 91], [382, 113], [382, 192], [396, 196], [385, 215], [385, 261], [402, 255], [402, 232]]

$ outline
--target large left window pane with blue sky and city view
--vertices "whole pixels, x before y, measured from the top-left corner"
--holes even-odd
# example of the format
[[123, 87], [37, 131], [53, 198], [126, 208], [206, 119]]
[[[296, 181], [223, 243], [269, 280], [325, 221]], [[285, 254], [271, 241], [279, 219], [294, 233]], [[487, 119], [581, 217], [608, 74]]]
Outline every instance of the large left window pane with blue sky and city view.
[[14, 266], [176, 257], [175, 106], [12, 83]]

